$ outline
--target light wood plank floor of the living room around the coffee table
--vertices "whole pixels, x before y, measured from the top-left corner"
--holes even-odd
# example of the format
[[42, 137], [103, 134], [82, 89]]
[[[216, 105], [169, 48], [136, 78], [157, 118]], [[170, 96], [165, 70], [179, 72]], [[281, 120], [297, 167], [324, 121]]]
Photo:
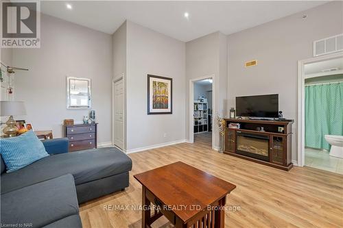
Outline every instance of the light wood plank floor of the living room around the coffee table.
[[[141, 212], [132, 210], [141, 205], [141, 185], [132, 176], [177, 161], [237, 186], [226, 205], [240, 210], [225, 212], [225, 227], [343, 227], [343, 175], [309, 167], [287, 172], [218, 153], [199, 140], [129, 156], [133, 162], [130, 186], [80, 205], [84, 228], [141, 227]], [[129, 209], [108, 210], [109, 205]], [[162, 217], [152, 227], [172, 225]]]

